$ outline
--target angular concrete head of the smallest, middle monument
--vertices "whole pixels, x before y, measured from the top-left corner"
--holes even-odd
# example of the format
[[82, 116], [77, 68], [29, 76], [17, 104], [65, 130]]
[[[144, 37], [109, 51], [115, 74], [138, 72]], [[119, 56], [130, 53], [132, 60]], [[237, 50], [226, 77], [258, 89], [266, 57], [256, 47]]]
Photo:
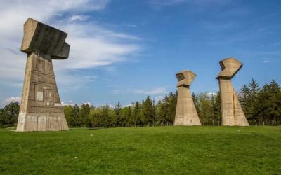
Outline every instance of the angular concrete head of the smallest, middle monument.
[[183, 70], [176, 73], [176, 78], [178, 78], [178, 84], [176, 85], [176, 87], [180, 87], [181, 85], [190, 86], [195, 76], [195, 73], [188, 70]]

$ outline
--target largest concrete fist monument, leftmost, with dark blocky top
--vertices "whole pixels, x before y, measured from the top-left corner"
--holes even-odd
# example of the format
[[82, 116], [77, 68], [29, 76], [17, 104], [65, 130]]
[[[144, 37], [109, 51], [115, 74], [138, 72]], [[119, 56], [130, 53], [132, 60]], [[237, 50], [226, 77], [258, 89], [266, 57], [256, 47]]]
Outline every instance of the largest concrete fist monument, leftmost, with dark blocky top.
[[28, 18], [20, 50], [27, 53], [17, 131], [68, 130], [52, 59], [67, 59], [67, 34]]

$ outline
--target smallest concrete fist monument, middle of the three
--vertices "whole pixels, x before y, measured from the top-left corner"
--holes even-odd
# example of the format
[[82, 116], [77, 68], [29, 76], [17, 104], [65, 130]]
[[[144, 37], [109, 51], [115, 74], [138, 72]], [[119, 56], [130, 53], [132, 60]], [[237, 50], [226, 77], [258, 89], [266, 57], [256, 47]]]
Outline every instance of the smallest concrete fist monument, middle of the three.
[[195, 73], [188, 70], [176, 73], [178, 101], [174, 125], [201, 125], [189, 88], [195, 76]]

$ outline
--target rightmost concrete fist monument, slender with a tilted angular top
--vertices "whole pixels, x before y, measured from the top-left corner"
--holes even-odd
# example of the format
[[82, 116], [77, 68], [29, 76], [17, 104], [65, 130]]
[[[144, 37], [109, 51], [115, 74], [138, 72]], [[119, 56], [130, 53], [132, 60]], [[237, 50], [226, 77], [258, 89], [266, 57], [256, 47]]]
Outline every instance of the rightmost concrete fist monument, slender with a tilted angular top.
[[249, 126], [231, 83], [231, 78], [240, 70], [242, 63], [232, 57], [223, 59], [219, 63], [221, 72], [217, 79], [221, 92], [221, 112], [223, 115], [221, 125]]

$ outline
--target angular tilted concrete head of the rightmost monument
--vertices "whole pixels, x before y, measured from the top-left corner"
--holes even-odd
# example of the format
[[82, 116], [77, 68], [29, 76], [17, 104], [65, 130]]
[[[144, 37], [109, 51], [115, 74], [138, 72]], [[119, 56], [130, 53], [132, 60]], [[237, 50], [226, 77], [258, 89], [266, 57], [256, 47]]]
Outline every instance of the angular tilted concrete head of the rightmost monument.
[[223, 59], [219, 63], [221, 65], [221, 72], [218, 74], [217, 78], [233, 78], [243, 65], [233, 57]]

